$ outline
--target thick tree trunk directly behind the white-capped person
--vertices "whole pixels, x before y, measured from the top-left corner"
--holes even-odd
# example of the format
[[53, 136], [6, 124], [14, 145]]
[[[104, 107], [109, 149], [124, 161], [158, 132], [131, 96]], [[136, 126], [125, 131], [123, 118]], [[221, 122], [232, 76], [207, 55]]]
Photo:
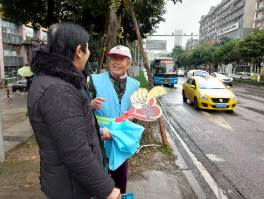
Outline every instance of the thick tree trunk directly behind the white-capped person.
[[[108, 24], [108, 40], [107, 40], [107, 49], [106, 53], [109, 53], [109, 51], [115, 47], [120, 45], [120, 39], [118, 36], [119, 31], [119, 18], [117, 13], [114, 10], [110, 9], [110, 15], [109, 15], [109, 24]], [[107, 71], [110, 69], [110, 57], [107, 57]]]

